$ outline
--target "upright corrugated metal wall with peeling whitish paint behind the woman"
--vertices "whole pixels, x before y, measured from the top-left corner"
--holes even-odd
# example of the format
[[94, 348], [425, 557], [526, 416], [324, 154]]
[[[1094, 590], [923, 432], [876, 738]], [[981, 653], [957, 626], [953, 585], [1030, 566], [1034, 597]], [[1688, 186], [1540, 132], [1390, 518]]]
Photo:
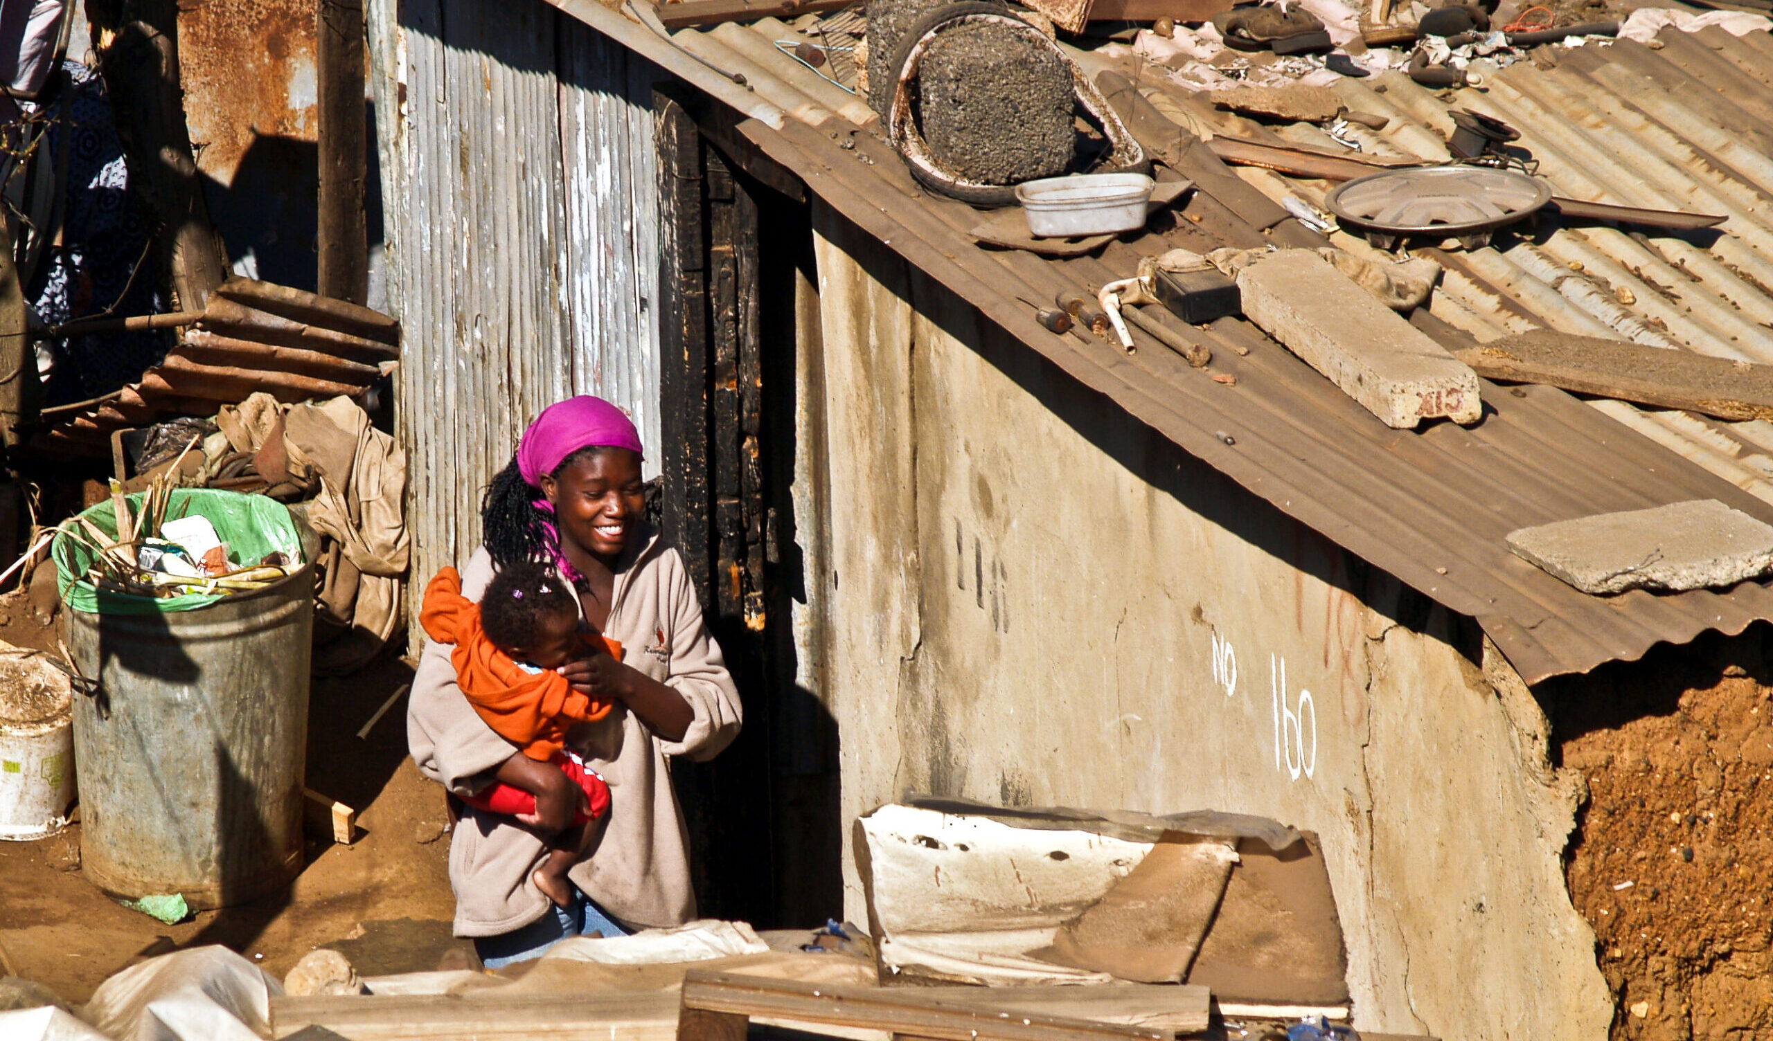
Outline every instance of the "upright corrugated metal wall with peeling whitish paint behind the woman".
[[543, 0], [369, 0], [369, 32], [424, 582], [480, 542], [480, 490], [544, 405], [596, 393], [660, 443], [667, 73]]

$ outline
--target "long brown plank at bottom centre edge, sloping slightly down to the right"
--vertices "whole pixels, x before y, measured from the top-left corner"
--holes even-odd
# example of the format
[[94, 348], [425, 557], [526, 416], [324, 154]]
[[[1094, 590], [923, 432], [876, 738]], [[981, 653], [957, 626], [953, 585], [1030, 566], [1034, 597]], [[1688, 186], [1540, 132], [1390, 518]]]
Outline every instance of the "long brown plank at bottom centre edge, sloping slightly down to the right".
[[[963, 1007], [931, 997], [933, 988], [830, 986], [787, 979], [762, 979], [722, 972], [690, 972], [683, 981], [686, 1013], [759, 1016], [810, 1029], [865, 1027], [936, 1041], [1168, 1041], [1174, 1032], [1126, 1023], [1044, 1013], [1012, 1014], [1004, 1009]], [[718, 1041], [736, 1020], [697, 1018], [702, 1034], [679, 1034], [684, 1041]]]

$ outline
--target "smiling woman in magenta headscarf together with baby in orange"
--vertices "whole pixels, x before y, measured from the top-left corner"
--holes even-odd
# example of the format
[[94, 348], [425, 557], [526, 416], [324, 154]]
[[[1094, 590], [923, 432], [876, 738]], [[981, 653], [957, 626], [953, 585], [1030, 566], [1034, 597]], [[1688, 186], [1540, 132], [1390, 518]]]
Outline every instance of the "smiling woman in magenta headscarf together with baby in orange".
[[[713, 758], [738, 735], [741, 708], [683, 558], [645, 522], [640, 459], [640, 436], [615, 405], [550, 405], [486, 489], [484, 545], [459, 581], [445, 572], [427, 590], [433, 639], [413, 678], [408, 740], [461, 813], [449, 860], [456, 935], [475, 940], [488, 968], [566, 937], [695, 917], [667, 756]], [[498, 572], [534, 565], [548, 574], [502, 581], [514, 598], [482, 630], [472, 602]], [[463, 611], [445, 611], [445, 597]], [[544, 632], [535, 604], [550, 597], [576, 600], [569, 648]], [[491, 605], [482, 613], [493, 620]], [[434, 625], [443, 618], [449, 627]], [[516, 639], [523, 620], [534, 639]]]

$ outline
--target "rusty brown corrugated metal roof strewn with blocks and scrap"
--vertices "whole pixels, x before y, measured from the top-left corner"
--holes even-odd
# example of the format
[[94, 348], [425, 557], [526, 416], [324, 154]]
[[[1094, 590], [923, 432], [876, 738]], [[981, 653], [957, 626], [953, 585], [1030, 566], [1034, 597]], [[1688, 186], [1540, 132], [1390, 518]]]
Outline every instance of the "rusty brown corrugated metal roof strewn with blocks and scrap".
[[[1761, 467], [1768, 462], [1761, 451], [1773, 448], [1773, 427], [1640, 413], [1617, 402], [1590, 407], [1551, 388], [1484, 384], [1493, 413], [1473, 428], [1434, 423], [1415, 432], [1390, 430], [1241, 320], [1216, 322], [1206, 333], [1215, 351], [1213, 368], [1236, 375], [1236, 386], [1188, 368], [1151, 340], [1126, 356], [1087, 335], [1055, 336], [1034, 322], [1018, 297], [1046, 299], [1060, 289], [1124, 278], [1133, 274], [1142, 255], [1172, 246], [1204, 251], [1268, 241], [1238, 216], [1239, 209], [1252, 212], [1254, 207], [1232, 198], [1236, 193], [1220, 177], [1206, 188], [1222, 198], [1197, 193], [1181, 207], [1179, 220], [1158, 218], [1144, 235], [1110, 243], [1099, 257], [1046, 260], [982, 250], [966, 234], [982, 220], [977, 211], [920, 191], [883, 140], [878, 120], [869, 120], [851, 94], [775, 46], [775, 41], [805, 39], [791, 27], [762, 19], [679, 30], [674, 42], [699, 58], [686, 62], [683, 55], [670, 55], [661, 39], [608, 9], [582, 0], [557, 2], [754, 115], [741, 131], [805, 179], [812, 193], [1062, 370], [1300, 522], [1452, 611], [1477, 618], [1528, 682], [1587, 671], [1613, 659], [1635, 660], [1656, 643], [1684, 643], [1707, 628], [1734, 634], [1750, 621], [1773, 618], [1773, 590], [1757, 582], [1729, 591], [1636, 591], [1596, 598], [1514, 558], [1504, 545], [1504, 535], [1514, 528], [1691, 497], [1716, 497], [1773, 520], [1773, 497], [1766, 497], [1773, 492], [1773, 462]], [[1761, 35], [1750, 42], [1732, 41], [1730, 50], [1713, 51], [1713, 57], [1725, 60], [1741, 51], [1743, 60], [1757, 53], [1768, 60], [1773, 50], [1761, 50], [1768, 48]], [[1713, 76], [1729, 74], [1716, 60], [1697, 53], [1706, 48], [1707, 35], [1700, 34], [1665, 44], [1663, 55], [1624, 42], [1608, 53], [1629, 51], [1658, 60], [1686, 57]], [[1544, 147], [1543, 172], [1564, 195], [1730, 212], [1725, 234], [1706, 248], [1695, 241], [1619, 230], [1564, 228], [1541, 244], [1456, 255], [1454, 273], [1436, 294], [1443, 299], [1434, 313], [1479, 338], [1528, 326], [1610, 336], [1631, 329], [1633, 338], [1645, 342], [1670, 336], [1674, 343], [1709, 347], [1709, 352], [1729, 343], [1745, 356], [1773, 361], [1773, 345], [1764, 333], [1757, 335], [1759, 322], [1773, 319], [1773, 297], [1761, 289], [1773, 285], [1773, 269], [1766, 267], [1762, 253], [1762, 243], [1773, 243], [1773, 227], [1746, 195], [1762, 188], [1722, 184], [1718, 179], [1736, 177], [1738, 170], [1702, 163], [1706, 152], [1691, 142], [1684, 147], [1693, 154], [1683, 154], [1683, 145], [1674, 142], [1660, 142], [1668, 156], [1660, 161], [1636, 156], [1633, 150], [1644, 145], [1635, 133], [1644, 127], [1621, 126], [1631, 101], [1589, 85], [1592, 80], [1573, 85], [1576, 76], [1585, 76], [1583, 60], [1566, 55], [1567, 66], [1553, 73], [1519, 64], [1504, 73], [1488, 96], [1466, 90], [1454, 101], [1509, 119], [1525, 131], [1523, 143], [1535, 154]], [[1679, 69], [1668, 60], [1663, 66]], [[709, 67], [736, 73], [745, 83], [711, 74]], [[1675, 85], [1667, 67], [1652, 66], [1652, 71], [1670, 76]], [[1714, 85], [1704, 83], [1714, 96]], [[1741, 104], [1773, 112], [1773, 89], [1762, 78], [1739, 71], [1732, 85]], [[1367, 92], [1360, 108], [1404, 117], [1394, 120], [1386, 136], [1399, 154], [1413, 154], [1408, 145], [1420, 149], [1438, 140], [1424, 127], [1447, 129], [1441, 126], [1449, 122], [1447, 106], [1438, 97], [1401, 76], [1381, 78], [1381, 87], [1383, 94], [1358, 87]], [[1564, 94], [1553, 104], [1557, 90]], [[1606, 96], [1605, 103], [1583, 106], [1576, 101], [1599, 94]], [[1668, 127], [1668, 133], [1679, 138], [1699, 135], [1700, 127], [1695, 120]], [[1766, 124], [1745, 119], [1743, 127], [1761, 133]], [[1729, 124], [1713, 129], [1727, 133]], [[1321, 131], [1310, 127], [1307, 133]], [[1569, 150], [1553, 154], [1543, 143], [1553, 140], [1567, 143]], [[1748, 165], [1745, 156], [1734, 161]], [[1605, 181], [1603, 168], [1621, 182]], [[1633, 172], [1635, 181], [1628, 184]], [[1257, 170], [1245, 177], [1277, 195], [1298, 191], [1312, 198], [1323, 188]], [[1261, 202], [1277, 209], [1266, 198]], [[1729, 209], [1716, 209], [1720, 205]], [[1298, 241], [1298, 227], [1275, 230]], [[1346, 235], [1339, 244], [1365, 250]], [[1580, 285], [1569, 283], [1567, 276], [1576, 273], [1562, 260], [1566, 255], [1589, 257], [1583, 264], [1590, 276], [1631, 273], [1644, 287], [1635, 290], [1636, 306], [1621, 305], [1622, 297], [1610, 289], [1580, 292]], [[1672, 289], [1658, 292], [1652, 283]], [[1603, 308], [1599, 297], [1613, 301], [1617, 310]], [[1700, 329], [1711, 338], [1702, 338]]]

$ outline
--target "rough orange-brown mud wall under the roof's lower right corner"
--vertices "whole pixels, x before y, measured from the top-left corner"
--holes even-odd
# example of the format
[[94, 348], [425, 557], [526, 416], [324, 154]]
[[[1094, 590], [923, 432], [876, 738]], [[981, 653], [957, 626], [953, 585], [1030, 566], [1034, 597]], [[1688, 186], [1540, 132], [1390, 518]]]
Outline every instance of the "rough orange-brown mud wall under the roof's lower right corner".
[[1773, 675], [1766, 627], [1553, 687], [1589, 779], [1567, 862], [1615, 1041], [1773, 1036]]

